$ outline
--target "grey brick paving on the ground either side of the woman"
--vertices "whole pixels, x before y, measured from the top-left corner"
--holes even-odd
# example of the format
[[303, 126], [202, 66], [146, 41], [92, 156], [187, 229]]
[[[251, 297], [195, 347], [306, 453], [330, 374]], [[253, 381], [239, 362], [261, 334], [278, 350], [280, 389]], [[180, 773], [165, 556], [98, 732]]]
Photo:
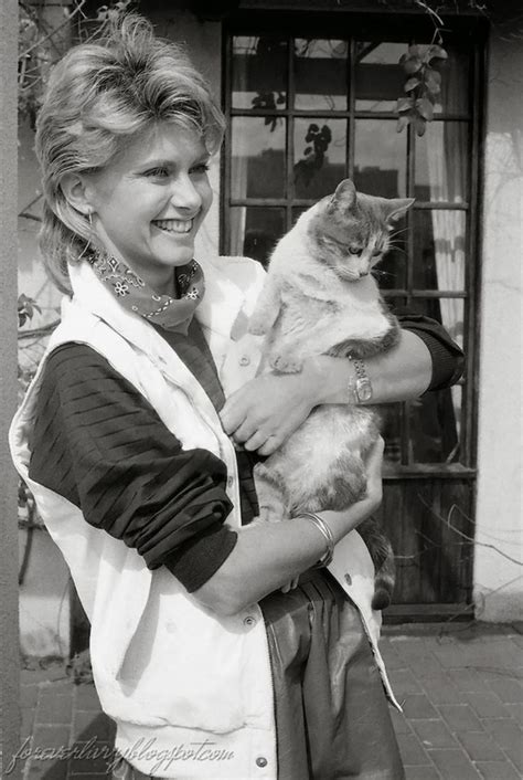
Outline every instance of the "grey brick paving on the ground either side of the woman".
[[[382, 651], [407, 780], [523, 778], [523, 623], [386, 626]], [[25, 665], [23, 779], [107, 778], [115, 729], [93, 684], [57, 662]]]

